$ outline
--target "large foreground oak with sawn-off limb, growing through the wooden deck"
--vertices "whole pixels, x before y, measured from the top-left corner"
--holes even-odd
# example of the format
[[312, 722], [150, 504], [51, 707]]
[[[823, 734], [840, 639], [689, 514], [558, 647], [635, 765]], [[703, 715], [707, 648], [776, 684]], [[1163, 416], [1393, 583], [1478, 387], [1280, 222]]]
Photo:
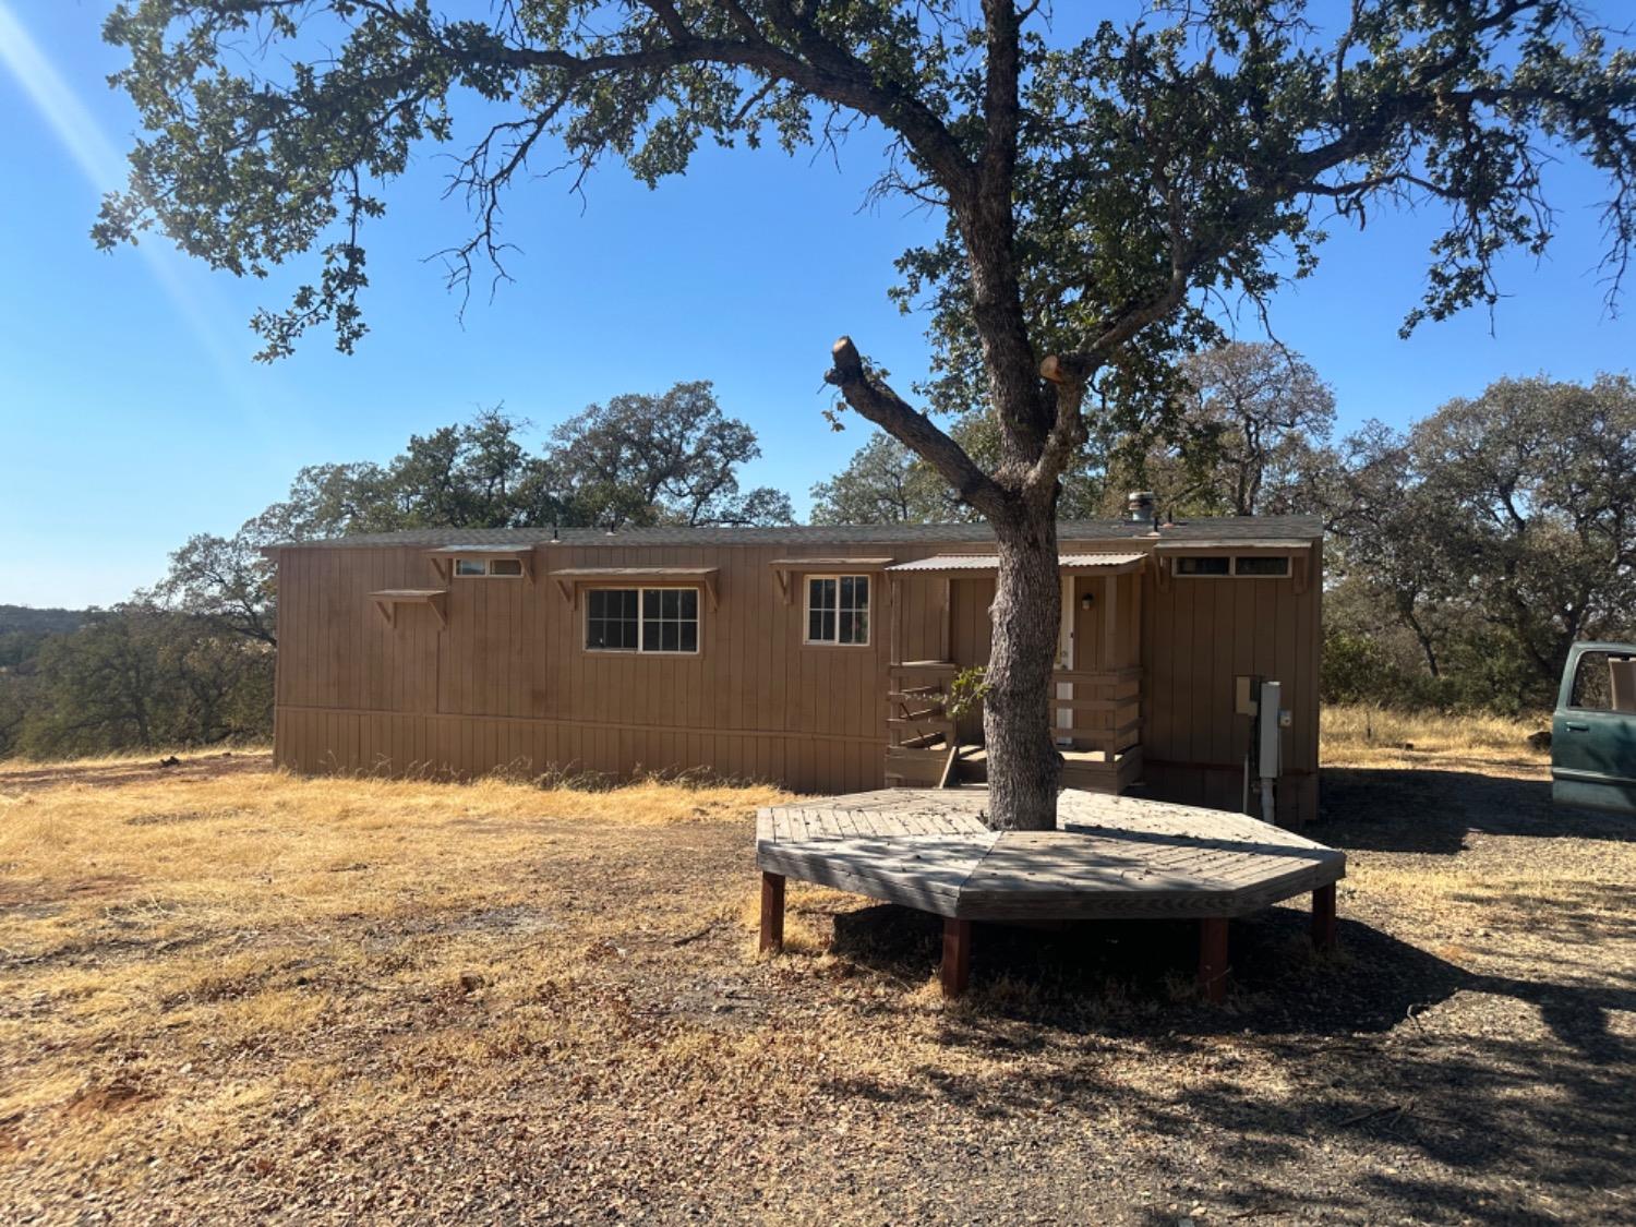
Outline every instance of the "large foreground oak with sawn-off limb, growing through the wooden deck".
[[[623, 162], [656, 183], [700, 141], [785, 149], [879, 124], [875, 185], [941, 211], [901, 260], [928, 312], [936, 402], [980, 402], [978, 465], [849, 339], [841, 399], [995, 530], [985, 735], [991, 818], [1055, 823], [1047, 692], [1058, 478], [1088, 406], [1140, 404], [1217, 308], [1314, 270], [1320, 216], [1435, 206], [1414, 327], [1494, 303], [1497, 260], [1539, 252], [1549, 152], [1610, 183], [1610, 270], [1636, 236], [1636, 61], [1574, 0], [1176, 0], [1054, 33], [1040, 0], [136, 0], [106, 25], [146, 136], [105, 245], [159, 227], [239, 275], [314, 276], [255, 319], [268, 357], [314, 326], [363, 335], [365, 236], [422, 144], [461, 141], [473, 204], [455, 276], [502, 252], [501, 200], [542, 165]], [[1327, 10], [1328, 11], [1328, 10]], [[1065, 18], [1078, 16], [1063, 13]], [[479, 131], [456, 123], [476, 95]], [[501, 118], [494, 119], [494, 111]], [[1353, 326], [1356, 326], [1353, 322]], [[973, 399], [975, 396], [975, 399]]]

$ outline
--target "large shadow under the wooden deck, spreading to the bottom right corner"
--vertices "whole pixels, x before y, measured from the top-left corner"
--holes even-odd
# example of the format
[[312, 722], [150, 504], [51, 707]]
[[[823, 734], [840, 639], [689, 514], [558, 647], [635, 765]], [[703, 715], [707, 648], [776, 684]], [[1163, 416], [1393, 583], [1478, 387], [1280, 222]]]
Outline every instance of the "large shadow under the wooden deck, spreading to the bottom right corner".
[[[1279, 906], [1234, 921], [1234, 990], [1211, 1008], [1191, 988], [1188, 921], [978, 924], [973, 937], [972, 993], [942, 1016], [941, 1042], [1029, 1057], [1009, 1062], [1005, 1093], [934, 1063], [838, 1090], [988, 1119], [1112, 1112], [1148, 1145], [1207, 1155], [1170, 1196], [1227, 1217], [1556, 1222], [1541, 1204], [1628, 1186], [1636, 1045], [1610, 1013], [1636, 1011], [1636, 983], [1477, 975], [1346, 919], [1340, 952], [1320, 959], [1306, 911]], [[836, 916], [831, 951], [924, 982], [939, 939], [937, 918], [870, 906]], [[1418, 1021], [1441, 1003], [1453, 1021]], [[1518, 1005], [1543, 1027], [1485, 1021], [1518, 1019]], [[1144, 1085], [1132, 1055], [1189, 1075]]]

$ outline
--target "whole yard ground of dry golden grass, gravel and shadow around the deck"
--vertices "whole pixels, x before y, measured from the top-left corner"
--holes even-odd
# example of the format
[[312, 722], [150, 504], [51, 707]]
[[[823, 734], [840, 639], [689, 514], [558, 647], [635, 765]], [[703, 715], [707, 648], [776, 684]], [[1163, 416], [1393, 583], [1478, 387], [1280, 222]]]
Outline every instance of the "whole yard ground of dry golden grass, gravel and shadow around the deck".
[[1343, 951], [1219, 1009], [1162, 923], [757, 959], [767, 789], [0, 772], [0, 1222], [1636, 1220], [1636, 821], [1327, 751]]

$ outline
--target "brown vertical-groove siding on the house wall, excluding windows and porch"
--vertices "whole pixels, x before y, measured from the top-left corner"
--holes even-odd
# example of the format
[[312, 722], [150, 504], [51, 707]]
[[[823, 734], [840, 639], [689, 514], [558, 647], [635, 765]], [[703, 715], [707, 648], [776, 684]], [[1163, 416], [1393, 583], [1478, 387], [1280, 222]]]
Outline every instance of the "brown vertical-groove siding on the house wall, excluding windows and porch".
[[[897, 561], [947, 551], [901, 543], [864, 553]], [[1065, 546], [1067, 548], [1067, 546]], [[1103, 543], [1103, 548], [1109, 548]], [[1121, 543], [1119, 548], [1130, 548]], [[401, 605], [394, 625], [370, 592], [442, 587], [424, 546], [306, 546], [278, 555], [278, 761], [306, 772], [474, 775], [494, 769], [630, 774], [705, 767], [813, 792], [883, 784], [887, 666], [983, 664], [993, 578], [870, 581], [870, 643], [805, 643], [805, 584], [785, 604], [782, 546], [542, 545], [533, 581], [450, 579], [448, 625]], [[829, 550], [834, 553], [834, 550]], [[1317, 551], [1314, 551], [1317, 555]], [[584, 596], [564, 600], [551, 571], [607, 566], [718, 568], [720, 605], [700, 594], [697, 656], [589, 653]], [[664, 581], [674, 582], [674, 581]], [[1076, 625], [1078, 667], [1098, 667], [1109, 584], [1114, 649], [1144, 666], [1147, 782], [1155, 795], [1232, 808], [1243, 718], [1234, 674], [1278, 677], [1294, 710], [1286, 789], [1294, 816], [1317, 797], [1317, 558], [1291, 579], [1081, 579], [1098, 609]], [[897, 591], [897, 607], [890, 604]], [[1076, 612], [1075, 618], [1081, 615]], [[895, 636], [895, 638], [893, 638]], [[1090, 651], [1086, 651], [1090, 648]]]

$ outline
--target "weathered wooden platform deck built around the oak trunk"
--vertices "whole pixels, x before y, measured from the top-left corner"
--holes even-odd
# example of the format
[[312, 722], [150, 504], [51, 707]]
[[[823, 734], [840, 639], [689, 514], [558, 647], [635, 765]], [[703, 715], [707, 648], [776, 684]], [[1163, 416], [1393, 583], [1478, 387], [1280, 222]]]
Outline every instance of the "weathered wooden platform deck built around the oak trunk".
[[[1314, 893], [1314, 939], [1333, 939], [1346, 856], [1243, 815], [1063, 790], [1057, 831], [990, 831], [987, 789], [887, 789], [761, 810], [756, 864], [944, 916], [944, 988], [965, 980], [970, 921], [1204, 921], [1201, 982], [1219, 998], [1225, 921]], [[764, 908], [764, 915], [766, 915]], [[1216, 926], [1216, 928], [1212, 928]], [[762, 946], [775, 946], [764, 924]], [[1220, 964], [1220, 967], [1217, 967]]]

